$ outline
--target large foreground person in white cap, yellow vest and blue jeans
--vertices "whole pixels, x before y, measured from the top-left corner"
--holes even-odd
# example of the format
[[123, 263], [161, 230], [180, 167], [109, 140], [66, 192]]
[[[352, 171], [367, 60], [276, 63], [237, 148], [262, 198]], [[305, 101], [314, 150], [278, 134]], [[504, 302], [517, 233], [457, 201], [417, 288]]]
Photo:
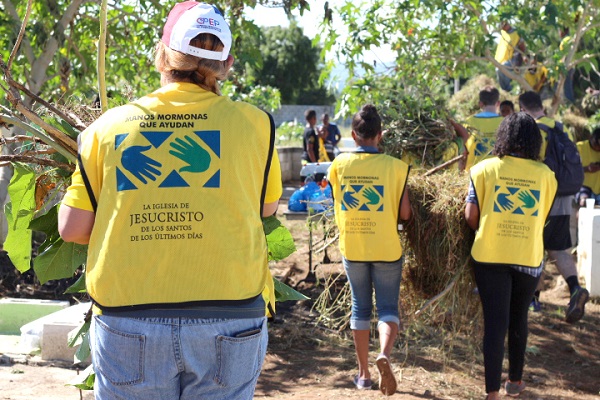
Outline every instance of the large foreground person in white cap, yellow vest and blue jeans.
[[161, 88], [79, 136], [59, 211], [89, 243], [97, 399], [252, 399], [274, 304], [261, 216], [281, 196], [272, 118], [220, 96], [231, 32], [186, 1], [156, 49]]

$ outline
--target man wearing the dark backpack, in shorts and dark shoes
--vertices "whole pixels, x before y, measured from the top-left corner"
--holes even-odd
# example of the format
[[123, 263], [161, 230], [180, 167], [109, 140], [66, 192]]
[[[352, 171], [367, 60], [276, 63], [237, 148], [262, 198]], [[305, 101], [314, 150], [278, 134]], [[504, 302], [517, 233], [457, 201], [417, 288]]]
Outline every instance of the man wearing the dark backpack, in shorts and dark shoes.
[[[525, 92], [519, 96], [519, 107], [521, 111], [526, 112], [535, 118], [542, 132], [542, 148], [540, 150], [540, 159], [546, 158], [546, 149], [548, 145], [548, 129], [557, 126], [557, 122], [548, 118], [544, 112], [544, 106], [539, 94], [535, 92]], [[568, 134], [568, 132], [564, 132]], [[571, 135], [569, 137], [572, 140]], [[579, 284], [577, 267], [573, 255], [569, 251], [572, 246], [570, 219], [572, 211], [573, 196], [556, 196], [548, 223], [544, 228], [544, 248], [548, 253], [548, 259], [553, 260], [556, 269], [560, 272], [565, 282], [569, 286], [570, 300], [565, 313], [565, 320], [568, 323], [579, 321], [585, 313], [585, 305], [589, 300], [590, 294], [587, 289]], [[539, 311], [538, 302], [539, 292], [533, 299], [532, 306]]]

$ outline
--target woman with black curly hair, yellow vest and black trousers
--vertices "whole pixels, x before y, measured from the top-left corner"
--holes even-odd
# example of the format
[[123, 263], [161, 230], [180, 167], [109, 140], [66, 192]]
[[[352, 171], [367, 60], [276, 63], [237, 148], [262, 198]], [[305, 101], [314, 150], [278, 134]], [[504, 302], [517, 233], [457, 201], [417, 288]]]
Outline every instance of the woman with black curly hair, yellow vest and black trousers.
[[476, 230], [471, 256], [483, 307], [488, 400], [500, 399], [507, 332], [504, 388], [509, 396], [525, 389], [527, 313], [543, 269], [544, 223], [557, 187], [554, 173], [538, 161], [541, 146], [535, 120], [512, 114], [498, 128], [495, 157], [471, 168], [465, 216]]

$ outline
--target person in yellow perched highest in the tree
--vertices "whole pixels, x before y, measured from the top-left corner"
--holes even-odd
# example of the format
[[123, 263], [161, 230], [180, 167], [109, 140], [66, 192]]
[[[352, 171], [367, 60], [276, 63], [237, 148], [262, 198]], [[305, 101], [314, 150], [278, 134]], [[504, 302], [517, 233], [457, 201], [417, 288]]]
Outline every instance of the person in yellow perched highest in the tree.
[[[525, 54], [525, 51], [526, 47], [523, 38], [519, 36], [519, 33], [515, 28], [507, 21], [504, 21], [500, 29], [500, 39], [494, 57], [496, 61], [518, 75], [518, 67], [523, 65], [523, 55]], [[496, 68], [496, 75], [500, 87], [503, 90], [510, 92], [512, 89], [512, 79], [506, 76], [500, 68]]]

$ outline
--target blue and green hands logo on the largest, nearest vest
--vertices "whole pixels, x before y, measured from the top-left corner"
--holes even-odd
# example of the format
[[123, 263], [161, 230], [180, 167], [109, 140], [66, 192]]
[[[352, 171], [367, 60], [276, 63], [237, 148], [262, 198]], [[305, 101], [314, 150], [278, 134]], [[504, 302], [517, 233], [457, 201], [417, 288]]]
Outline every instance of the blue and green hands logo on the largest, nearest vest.
[[[159, 188], [190, 187], [190, 182], [194, 186], [201, 182], [205, 188], [221, 186], [220, 131], [193, 131], [173, 140], [169, 140], [173, 132], [142, 131], [140, 134], [147, 145], [126, 147], [129, 134], [115, 136], [115, 150], [121, 150], [122, 167], [116, 169], [117, 191], [137, 190], [153, 182], [158, 183]], [[181, 166], [174, 169], [177, 164]], [[173, 169], [163, 175], [166, 168]]]

